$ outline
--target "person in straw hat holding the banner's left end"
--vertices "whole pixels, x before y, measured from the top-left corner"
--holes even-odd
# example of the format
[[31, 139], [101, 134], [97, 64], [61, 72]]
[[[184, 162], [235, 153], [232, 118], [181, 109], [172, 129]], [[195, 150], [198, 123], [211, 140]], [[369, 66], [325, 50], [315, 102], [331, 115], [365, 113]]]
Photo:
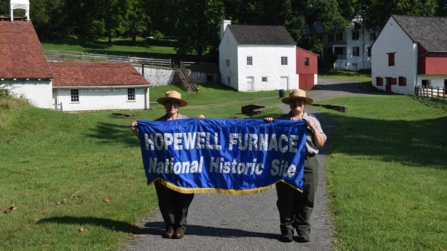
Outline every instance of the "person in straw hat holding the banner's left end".
[[[173, 121], [176, 119], [187, 119], [187, 116], [179, 114], [179, 107], [185, 107], [188, 103], [182, 100], [182, 94], [177, 91], [167, 91], [165, 96], [156, 100], [160, 105], [164, 105], [166, 114], [155, 121]], [[198, 119], [205, 119], [200, 114]], [[137, 121], [131, 123], [131, 128], [140, 139]], [[165, 222], [166, 231], [163, 238], [183, 238], [186, 230], [186, 216], [188, 208], [193, 200], [194, 194], [186, 194], [171, 190], [162, 185], [160, 180], [154, 181], [156, 195], [159, 199], [159, 208]]]

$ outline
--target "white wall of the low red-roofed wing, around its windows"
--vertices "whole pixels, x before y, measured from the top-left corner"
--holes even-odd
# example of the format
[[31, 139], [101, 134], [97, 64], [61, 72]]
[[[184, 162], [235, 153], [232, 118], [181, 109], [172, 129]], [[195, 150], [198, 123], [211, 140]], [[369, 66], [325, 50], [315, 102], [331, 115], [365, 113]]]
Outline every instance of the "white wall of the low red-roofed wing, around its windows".
[[71, 102], [71, 89], [54, 89], [54, 98], [58, 104], [62, 103], [64, 112], [149, 108], [147, 88], [135, 88], [135, 100], [132, 101], [127, 100], [127, 88], [78, 90], [79, 102]]

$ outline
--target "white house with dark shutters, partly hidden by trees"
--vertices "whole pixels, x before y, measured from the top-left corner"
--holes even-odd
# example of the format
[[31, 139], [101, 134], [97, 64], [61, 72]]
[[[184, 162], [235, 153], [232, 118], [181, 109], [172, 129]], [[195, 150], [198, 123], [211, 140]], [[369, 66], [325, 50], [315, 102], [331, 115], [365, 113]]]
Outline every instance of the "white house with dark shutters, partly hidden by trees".
[[371, 68], [371, 46], [378, 31], [366, 29], [361, 17], [351, 21], [345, 30], [320, 33], [324, 43], [323, 61], [333, 60], [335, 70], [362, 70]]

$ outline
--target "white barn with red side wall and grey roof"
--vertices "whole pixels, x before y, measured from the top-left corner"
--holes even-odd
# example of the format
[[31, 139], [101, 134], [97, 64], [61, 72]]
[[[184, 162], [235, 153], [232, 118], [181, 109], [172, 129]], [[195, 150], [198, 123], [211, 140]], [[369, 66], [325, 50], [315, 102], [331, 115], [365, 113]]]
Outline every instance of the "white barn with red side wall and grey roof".
[[447, 86], [447, 17], [392, 15], [372, 45], [372, 85], [413, 95]]

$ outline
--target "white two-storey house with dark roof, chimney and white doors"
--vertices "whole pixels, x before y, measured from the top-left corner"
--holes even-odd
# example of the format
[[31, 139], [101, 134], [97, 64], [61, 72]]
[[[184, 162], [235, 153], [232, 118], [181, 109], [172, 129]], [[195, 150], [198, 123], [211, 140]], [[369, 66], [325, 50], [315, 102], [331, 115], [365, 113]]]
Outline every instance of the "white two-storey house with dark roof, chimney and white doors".
[[296, 42], [284, 26], [221, 22], [221, 83], [237, 91], [298, 88]]

